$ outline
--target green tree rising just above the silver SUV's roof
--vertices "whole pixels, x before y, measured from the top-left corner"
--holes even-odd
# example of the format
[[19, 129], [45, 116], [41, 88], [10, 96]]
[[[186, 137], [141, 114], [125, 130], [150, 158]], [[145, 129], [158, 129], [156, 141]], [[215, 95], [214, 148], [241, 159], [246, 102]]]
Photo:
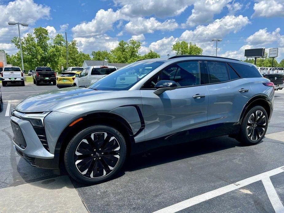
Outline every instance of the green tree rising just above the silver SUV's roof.
[[180, 55], [201, 55], [203, 50], [196, 46], [196, 44], [192, 44], [191, 42], [188, 44], [186, 41], [177, 41], [172, 46], [172, 51], [176, 52], [176, 56]]

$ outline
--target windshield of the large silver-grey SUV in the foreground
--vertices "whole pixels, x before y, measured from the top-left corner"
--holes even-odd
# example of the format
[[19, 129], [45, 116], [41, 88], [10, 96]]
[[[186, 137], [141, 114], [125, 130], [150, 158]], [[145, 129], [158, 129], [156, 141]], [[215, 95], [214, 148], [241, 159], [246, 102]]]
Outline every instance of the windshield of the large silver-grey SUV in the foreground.
[[128, 90], [163, 63], [163, 61], [138, 61], [111, 73], [93, 83], [88, 88], [99, 90]]

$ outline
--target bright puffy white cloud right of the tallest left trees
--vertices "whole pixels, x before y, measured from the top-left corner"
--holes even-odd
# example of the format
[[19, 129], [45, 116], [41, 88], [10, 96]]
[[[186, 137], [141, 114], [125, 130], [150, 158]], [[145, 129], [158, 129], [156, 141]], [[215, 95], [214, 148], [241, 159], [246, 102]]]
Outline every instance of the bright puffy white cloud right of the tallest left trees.
[[113, 23], [120, 19], [128, 19], [120, 14], [120, 10], [115, 12], [112, 9], [99, 10], [91, 21], [78, 24], [71, 30], [78, 34], [100, 35], [111, 30]]

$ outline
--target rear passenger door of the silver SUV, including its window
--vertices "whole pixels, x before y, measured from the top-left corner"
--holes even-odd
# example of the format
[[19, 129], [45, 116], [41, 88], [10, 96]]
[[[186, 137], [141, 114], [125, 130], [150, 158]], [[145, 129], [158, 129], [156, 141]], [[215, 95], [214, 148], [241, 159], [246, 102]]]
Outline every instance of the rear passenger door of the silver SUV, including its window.
[[[226, 62], [204, 61], [208, 72], [208, 129], [234, 126], [247, 101], [253, 96], [249, 82]], [[235, 126], [237, 128], [237, 126]], [[217, 133], [217, 131], [215, 131]]]

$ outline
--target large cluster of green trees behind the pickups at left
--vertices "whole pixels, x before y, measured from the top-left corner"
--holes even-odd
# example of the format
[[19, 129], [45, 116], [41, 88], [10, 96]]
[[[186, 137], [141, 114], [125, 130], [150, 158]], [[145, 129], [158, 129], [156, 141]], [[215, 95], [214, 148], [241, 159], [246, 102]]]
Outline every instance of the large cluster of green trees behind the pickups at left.
[[[20, 49], [18, 37], [14, 37], [11, 42]], [[34, 29], [33, 34], [28, 33], [22, 39], [21, 45], [25, 70], [33, 70], [38, 66], [50, 66], [53, 70], [60, 71], [61, 66], [66, 66], [66, 41], [60, 34], [50, 39], [47, 30], [38, 27]], [[82, 66], [84, 60], [91, 60], [90, 55], [79, 52], [75, 40], [68, 42], [68, 66]], [[9, 62], [21, 67], [20, 51], [9, 56]]]

